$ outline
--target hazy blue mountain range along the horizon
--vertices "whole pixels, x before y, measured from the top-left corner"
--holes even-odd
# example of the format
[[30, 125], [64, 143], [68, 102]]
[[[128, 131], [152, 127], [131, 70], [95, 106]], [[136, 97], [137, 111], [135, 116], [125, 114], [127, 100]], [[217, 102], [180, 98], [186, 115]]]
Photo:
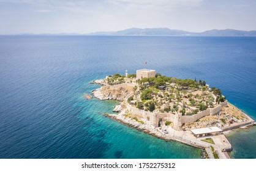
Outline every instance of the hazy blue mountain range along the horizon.
[[238, 31], [234, 29], [211, 30], [205, 32], [187, 32], [168, 28], [131, 28], [116, 32], [94, 32], [88, 35], [205, 35], [205, 36], [256, 36], [256, 31]]

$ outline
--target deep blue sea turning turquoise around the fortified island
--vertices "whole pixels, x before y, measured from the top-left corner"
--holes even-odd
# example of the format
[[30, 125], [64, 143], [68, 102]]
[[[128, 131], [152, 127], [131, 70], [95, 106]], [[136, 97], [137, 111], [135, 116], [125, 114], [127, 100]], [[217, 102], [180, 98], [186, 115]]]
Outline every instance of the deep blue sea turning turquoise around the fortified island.
[[[200, 158], [105, 117], [118, 102], [83, 98], [141, 68], [203, 79], [256, 119], [256, 37], [0, 36], [0, 158]], [[255, 126], [228, 139], [232, 158], [256, 158]]]

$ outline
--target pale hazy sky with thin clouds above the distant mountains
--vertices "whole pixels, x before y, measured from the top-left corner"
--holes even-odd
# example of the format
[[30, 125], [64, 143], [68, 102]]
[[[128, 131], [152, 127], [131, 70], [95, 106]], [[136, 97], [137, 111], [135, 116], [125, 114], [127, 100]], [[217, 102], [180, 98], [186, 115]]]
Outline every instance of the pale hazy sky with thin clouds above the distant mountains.
[[0, 34], [256, 30], [255, 0], [0, 0]]

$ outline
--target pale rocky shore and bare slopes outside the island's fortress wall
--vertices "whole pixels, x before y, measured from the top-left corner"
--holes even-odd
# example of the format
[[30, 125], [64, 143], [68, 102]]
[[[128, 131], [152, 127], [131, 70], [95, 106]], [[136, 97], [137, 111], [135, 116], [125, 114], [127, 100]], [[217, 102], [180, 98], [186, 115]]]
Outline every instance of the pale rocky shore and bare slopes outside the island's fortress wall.
[[[91, 83], [96, 83], [96, 84], [102, 85], [102, 87], [100, 87], [99, 89], [92, 91], [93, 95], [96, 98], [98, 98], [99, 100], [118, 100], [118, 101], [122, 102], [127, 98], [128, 95], [130, 95], [131, 93], [134, 92], [134, 89], [133, 89], [134, 87], [130, 86], [129, 84], [128, 85], [127, 84], [108, 85], [104, 79], [99, 79], [99, 80], [93, 81]], [[232, 106], [232, 104], [229, 104], [229, 105]], [[242, 119], [238, 119], [238, 118], [236, 118], [238, 116], [233, 116], [233, 115], [228, 114], [228, 112], [230, 112], [229, 110], [231, 110], [232, 112], [236, 111], [235, 106], [230, 107], [232, 109], [224, 108], [224, 107], [222, 107], [222, 108], [224, 109], [224, 111], [222, 113], [220, 113], [220, 116], [224, 115], [224, 117], [227, 118], [228, 123], [225, 123], [225, 120], [222, 121], [221, 120], [222, 118], [220, 118], [220, 120], [223, 123], [225, 123], [225, 124], [220, 125], [222, 122], [220, 122], [220, 120], [219, 120], [219, 115], [218, 116], [209, 115], [209, 116], [206, 116], [205, 118], [198, 119], [197, 122], [187, 123], [186, 125], [184, 125], [184, 126], [186, 126], [185, 128], [187, 128], [187, 127], [188, 128], [197, 128], [198, 126], [203, 127], [203, 128], [205, 126], [219, 126], [221, 128], [223, 126], [226, 126], [227, 128], [229, 128], [230, 125], [227, 125], [227, 124], [232, 124], [233, 122], [238, 122], [238, 125], [235, 125], [235, 126], [239, 126], [239, 125], [241, 125], [241, 123], [239, 123], [239, 122], [245, 122], [244, 120], [246, 119], [246, 117], [243, 117]], [[203, 148], [205, 150], [201, 152], [201, 158], [213, 158], [213, 155], [211, 155], [212, 150], [208, 149], [209, 144], [207, 142], [200, 141], [200, 138], [194, 137], [190, 133], [190, 131], [189, 131], [190, 129], [183, 128], [182, 131], [176, 130], [176, 129], [173, 129], [173, 127], [171, 125], [170, 125], [170, 127], [166, 128], [166, 129], [165, 129], [165, 125], [164, 125], [164, 127], [162, 127], [162, 129], [156, 128], [157, 126], [156, 127], [153, 126], [152, 123], [148, 121], [148, 119], [145, 119], [145, 118], [143, 119], [140, 117], [140, 115], [136, 115], [136, 113], [129, 114], [129, 112], [126, 109], [127, 109], [126, 104], [121, 103], [121, 104], [115, 106], [113, 109], [113, 112], [119, 112], [119, 114], [106, 114], [105, 113], [104, 115], [106, 117], [110, 117], [113, 120], [116, 120], [124, 125], [135, 128], [138, 131], [143, 131], [144, 133], [149, 134], [154, 137], [157, 137], [159, 139], [164, 139], [167, 141], [173, 140], [173, 141], [187, 144], [187, 145], [190, 145], [193, 147]], [[247, 123], [243, 123], [243, 125], [247, 125]], [[230, 131], [228, 131], [227, 128], [225, 130], [223, 129], [224, 131], [226, 131], [224, 134], [230, 133]], [[165, 129], [165, 130], [163, 130], [163, 129]], [[168, 130], [168, 132], [167, 132], [167, 130]], [[232, 149], [231, 145], [229, 144], [229, 142], [225, 138], [225, 136], [221, 137], [221, 139], [225, 139], [224, 142], [227, 142], [224, 146], [225, 149], [226, 148]], [[218, 140], [216, 142], [218, 142]], [[228, 158], [228, 156], [225, 155], [224, 151], [222, 150], [222, 149], [224, 149], [223, 145], [224, 145], [223, 142], [222, 143], [218, 142], [218, 144], [214, 145], [214, 148], [216, 148], [218, 150], [220, 158]]]

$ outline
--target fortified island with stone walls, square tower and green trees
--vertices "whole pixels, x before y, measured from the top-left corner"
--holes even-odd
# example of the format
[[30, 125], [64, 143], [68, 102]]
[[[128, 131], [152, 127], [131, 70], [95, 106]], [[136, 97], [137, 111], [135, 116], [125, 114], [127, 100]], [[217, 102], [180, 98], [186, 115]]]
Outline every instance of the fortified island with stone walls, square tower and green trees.
[[121, 123], [165, 140], [206, 150], [208, 158], [230, 158], [232, 145], [225, 134], [255, 121], [228, 103], [222, 91], [199, 79], [162, 76], [156, 70], [115, 74], [93, 81], [102, 87], [92, 93], [99, 100], [118, 100], [105, 114]]

